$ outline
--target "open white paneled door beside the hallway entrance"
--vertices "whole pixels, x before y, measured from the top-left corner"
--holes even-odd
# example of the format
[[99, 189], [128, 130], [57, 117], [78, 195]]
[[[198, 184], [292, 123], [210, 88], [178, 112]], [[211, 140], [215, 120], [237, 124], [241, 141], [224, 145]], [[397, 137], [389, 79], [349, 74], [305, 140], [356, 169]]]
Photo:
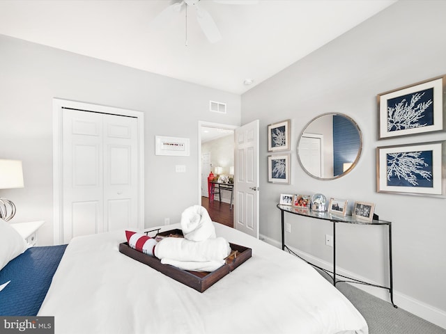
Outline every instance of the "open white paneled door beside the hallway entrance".
[[259, 120], [235, 132], [234, 228], [259, 239]]

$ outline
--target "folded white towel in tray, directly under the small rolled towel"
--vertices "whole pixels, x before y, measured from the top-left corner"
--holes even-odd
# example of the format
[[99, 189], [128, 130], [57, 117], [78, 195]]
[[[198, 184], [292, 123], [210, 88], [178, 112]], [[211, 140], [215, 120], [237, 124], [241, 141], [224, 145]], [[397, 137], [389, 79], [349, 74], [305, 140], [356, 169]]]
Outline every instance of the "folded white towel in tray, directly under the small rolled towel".
[[231, 253], [229, 242], [222, 237], [203, 241], [164, 238], [155, 246], [155, 256], [176, 261], [222, 261]]

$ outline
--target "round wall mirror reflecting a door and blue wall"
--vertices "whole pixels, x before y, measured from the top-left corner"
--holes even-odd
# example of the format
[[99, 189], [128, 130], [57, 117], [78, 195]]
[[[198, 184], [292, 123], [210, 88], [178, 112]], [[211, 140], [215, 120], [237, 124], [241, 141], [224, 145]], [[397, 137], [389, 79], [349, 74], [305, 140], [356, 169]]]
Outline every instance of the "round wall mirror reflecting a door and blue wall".
[[350, 117], [324, 113], [311, 120], [300, 134], [300, 166], [319, 180], [346, 175], [360, 159], [362, 134]]

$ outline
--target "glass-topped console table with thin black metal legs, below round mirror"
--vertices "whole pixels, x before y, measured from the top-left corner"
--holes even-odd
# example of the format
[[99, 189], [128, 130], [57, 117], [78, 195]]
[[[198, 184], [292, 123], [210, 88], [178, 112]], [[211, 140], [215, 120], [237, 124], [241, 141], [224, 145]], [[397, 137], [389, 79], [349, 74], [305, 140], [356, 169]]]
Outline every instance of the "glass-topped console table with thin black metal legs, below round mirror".
[[[390, 301], [392, 302], [392, 305], [394, 308], [397, 308], [397, 305], [393, 302], [393, 276], [392, 276], [392, 223], [390, 221], [380, 221], [378, 219], [374, 219], [373, 221], [362, 221], [360, 219], [357, 219], [353, 216], [337, 216], [335, 214], [330, 214], [328, 212], [316, 212], [312, 211], [311, 209], [300, 209], [298, 207], [292, 207], [290, 205], [280, 205], [277, 204], [277, 207], [280, 209], [281, 214], [281, 220], [282, 220], [282, 250], [285, 250], [285, 247], [288, 248], [288, 246], [285, 245], [285, 212], [288, 212], [290, 214], [297, 214], [299, 216], [305, 216], [309, 218], [316, 218], [316, 219], [322, 219], [324, 221], [331, 221], [333, 223], [333, 285], [336, 286], [337, 283], [346, 282], [346, 283], [359, 283], [364, 285], [371, 285], [372, 287], [380, 287], [382, 289], [387, 289], [390, 293]], [[390, 274], [390, 286], [385, 287], [383, 285], [376, 285], [372, 283], [367, 283], [362, 280], [357, 280], [355, 278], [347, 277], [347, 276], [341, 276], [344, 278], [347, 278], [348, 280], [336, 280], [336, 224], [337, 223], [347, 223], [347, 224], [353, 224], [353, 225], [380, 225], [380, 226], [387, 226], [388, 232], [389, 232], [389, 274]], [[289, 248], [288, 248], [289, 249]], [[308, 264], [311, 264], [314, 267], [314, 264], [308, 262], [305, 260]], [[322, 268], [320, 268], [322, 269]], [[325, 269], [322, 269], [325, 271]]]

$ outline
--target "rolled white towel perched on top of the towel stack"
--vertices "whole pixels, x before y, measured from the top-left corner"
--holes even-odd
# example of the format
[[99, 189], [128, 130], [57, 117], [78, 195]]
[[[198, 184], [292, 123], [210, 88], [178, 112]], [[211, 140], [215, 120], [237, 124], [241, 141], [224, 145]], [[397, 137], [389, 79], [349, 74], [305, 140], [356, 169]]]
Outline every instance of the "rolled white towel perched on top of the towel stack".
[[188, 207], [181, 214], [181, 230], [186, 239], [203, 241], [215, 239], [215, 228], [206, 209], [201, 205]]

